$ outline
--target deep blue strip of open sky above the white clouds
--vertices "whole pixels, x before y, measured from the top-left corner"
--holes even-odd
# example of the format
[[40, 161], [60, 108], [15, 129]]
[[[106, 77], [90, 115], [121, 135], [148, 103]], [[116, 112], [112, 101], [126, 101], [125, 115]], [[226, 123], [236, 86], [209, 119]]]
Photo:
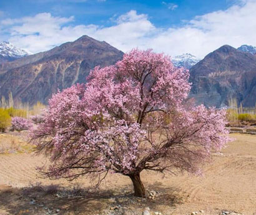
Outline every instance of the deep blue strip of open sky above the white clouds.
[[129, 1], [129, 0], [1, 0], [0, 8], [5, 17], [19, 18], [51, 12], [53, 16], [75, 16], [73, 24], [103, 24], [111, 17], [120, 16], [130, 10], [148, 14], [150, 21], [159, 27], [181, 25], [182, 20], [192, 19], [234, 4], [231, 0], [184, 0], [184, 1]]

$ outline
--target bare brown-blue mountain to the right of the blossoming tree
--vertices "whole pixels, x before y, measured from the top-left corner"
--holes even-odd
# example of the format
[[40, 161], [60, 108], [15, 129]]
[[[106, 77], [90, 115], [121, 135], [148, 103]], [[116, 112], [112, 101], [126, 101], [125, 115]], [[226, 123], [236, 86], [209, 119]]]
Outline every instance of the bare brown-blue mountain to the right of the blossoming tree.
[[192, 90], [198, 104], [224, 107], [231, 98], [244, 107], [255, 107], [256, 55], [224, 45], [190, 69]]

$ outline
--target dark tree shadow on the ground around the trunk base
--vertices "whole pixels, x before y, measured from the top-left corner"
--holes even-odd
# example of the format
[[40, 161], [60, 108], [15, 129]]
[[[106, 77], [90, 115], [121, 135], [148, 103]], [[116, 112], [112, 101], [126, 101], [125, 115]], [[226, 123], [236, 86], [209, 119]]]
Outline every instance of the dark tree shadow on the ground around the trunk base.
[[[0, 214], [125, 214], [127, 211], [141, 210], [147, 206], [157, 209], [160, 205], [182, 204], [182, 198], [175, 195], [177, 189], [164, 188], [161, 184], [148, 186], [159, 194], [155, 199], [133, 196], [132, 186], [116, 189], [92, 190], [80, 186], [64, 188], [57, 185], [34, 184], [26, 188], [4, 187], [0, 189]], [[127, 213], [126, 213], [127, 214]]]

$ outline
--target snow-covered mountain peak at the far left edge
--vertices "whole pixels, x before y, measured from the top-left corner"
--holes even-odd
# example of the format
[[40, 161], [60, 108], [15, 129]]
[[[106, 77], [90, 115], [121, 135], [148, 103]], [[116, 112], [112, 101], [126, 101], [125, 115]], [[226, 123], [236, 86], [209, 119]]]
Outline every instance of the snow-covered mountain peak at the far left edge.
[[30, 54], [30, 52], [19, 49], [9, 42], [0, 42], [0, 64], [16, 60]]

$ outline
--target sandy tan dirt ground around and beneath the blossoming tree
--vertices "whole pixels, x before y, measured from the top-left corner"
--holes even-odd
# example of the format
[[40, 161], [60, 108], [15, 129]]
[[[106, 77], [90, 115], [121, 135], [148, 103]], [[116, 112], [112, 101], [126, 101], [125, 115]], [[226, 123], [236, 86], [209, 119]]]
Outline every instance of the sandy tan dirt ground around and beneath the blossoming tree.
[[19, 148], [27, 150], [6, 153], [6, 141], [14, 138], [7, 135], [0, 136], [0, 146], [5, 149], [0, 154], [0, 215], [129, 215], [142, 214], [145, 207], [152, 214], [159, 211], [163, 215], [200, 210], [219, 214], [224, 209], [256, 214], [256, 135], [230, 134], [236, 140], [213, 156], [204, 176], [177, 174], [163, 178], [142, 172], [145, 188], [159, 193], [155, 199], [133, 197], [130, 179], [117, 174], [109, 175], [99, 190], [92, 189], [86, 178], [72, 183], [39, 178], [35, 168], [46, 159], [35, 156], [19, 140]]

